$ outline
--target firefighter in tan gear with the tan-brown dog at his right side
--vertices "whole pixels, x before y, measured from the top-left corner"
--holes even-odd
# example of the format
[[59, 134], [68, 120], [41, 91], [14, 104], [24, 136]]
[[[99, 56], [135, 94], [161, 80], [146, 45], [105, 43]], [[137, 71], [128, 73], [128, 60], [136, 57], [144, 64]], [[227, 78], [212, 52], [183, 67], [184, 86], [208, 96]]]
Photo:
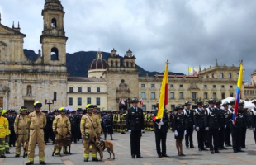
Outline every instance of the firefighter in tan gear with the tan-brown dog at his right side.
[[[95, 143], [97, 142], [97, 132], [100, 133], [97, 128], [99, 128], [98, 125], [100, 125], [97, 115], [93, 115], [94, 106], [90, 105], [87, 108], [88, 113], [86, 115], [83, 115], [81, 118], [81, 124], [80, 124], [80, 130], [81, 134], [83, 136], [83, 148], [84, 148], [84, 162], [88, 162], [89, 159], [89, 153], [90, 153], [90, 144], [92, 141]], [[96, 117], [95, 117], [96, 116]], [[95, 145], [92, 145], [92, 161], [98, 161], [97, 159], [97, 150]]]

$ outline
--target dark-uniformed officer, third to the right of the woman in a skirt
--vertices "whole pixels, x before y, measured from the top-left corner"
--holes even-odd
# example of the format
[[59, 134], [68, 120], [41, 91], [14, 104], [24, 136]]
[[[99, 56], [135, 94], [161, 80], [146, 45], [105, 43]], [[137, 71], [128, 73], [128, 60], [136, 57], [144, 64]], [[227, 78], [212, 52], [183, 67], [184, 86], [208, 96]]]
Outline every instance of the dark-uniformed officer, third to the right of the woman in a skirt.
[[[220, 130], [220, 111], [216, 110], [215, 100], [208, 101], [209, 108], [205, 111], [205, 126], [208, 131], [208, 144], [211, 154], [220, 153], [218, 142], [218, 131]], [[212, 139], [214, 145], [212, 145]]]

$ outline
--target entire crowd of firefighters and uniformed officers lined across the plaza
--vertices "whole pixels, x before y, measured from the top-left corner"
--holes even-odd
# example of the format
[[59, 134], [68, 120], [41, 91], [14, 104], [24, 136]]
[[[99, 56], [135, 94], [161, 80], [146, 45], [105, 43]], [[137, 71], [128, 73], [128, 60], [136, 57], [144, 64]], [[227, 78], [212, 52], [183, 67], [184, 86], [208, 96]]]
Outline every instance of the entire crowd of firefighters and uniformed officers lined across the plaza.
[[[173, 131], [179, 156], [183, 153], [183, 139], [186, 148], [195, 148], [193, 131], [197, 132], [198, 150], [210, 149], [211, 154], [231, 147], [234, 153], [244, 152], [246, 148], [246, 130], [252, 128], [256, 143], [256, 107], [244, 109], [244, 101], [239, 101], [239, 111], [234, 120], [235, 100], [221, 102], [210, 99], [206, 103], [197, 101], [197, 108], [192, 109], [191, 103], [185, 101], [173, 111], [164, 110], [162, 119], [154, 120], [158, 114], [158, 104], [154, 111], [143, 111], [138, 107], [138, 99], [131, 100], [131, 107], [126, 111], [99, 111], [97, 106], [88, 105], [86, 109], [67, 111], [64, 107], [53, 112], [41, 111], [42, 104], [34, 103], [34, 111], [27, 111], [21, 106], [20, 113], [6, 111], [0, 108], [0, 157], [6, 158], [10, 147], [16, 147], [15, 157], [20, 157], [21, 146], [23, 156], [34, 163], [36, 143], [39, 147], [40, 164], [45, 164], [45, 144], [56, 144], [55, 140], [69, 136], [73, 143], [80, 140], [84, 147], [84, 161], [88, 162], [90, 149], [92, 161], [97, 159], [97, 142], [103, 134], [113, 140], [114, 133], [130, 134], [131, 158], [143, 158], [140, 153], [140, 139], [145, 130], [154, 131], [156, 151], [161, 157], [168, 157], [166, 153], [166, 139], [168, 130]], [[253, 101], [256, 106], [256, 100]], [[231, 140], [232, 139], [232, 140]], [[95, 145], [92, 145], [95, 144]], [[91, 148], [90, 148], [91, 146]], [[62, 146], [56, 144], [58, 155]], [[69, 154], [63, 147], [63, 153]]]

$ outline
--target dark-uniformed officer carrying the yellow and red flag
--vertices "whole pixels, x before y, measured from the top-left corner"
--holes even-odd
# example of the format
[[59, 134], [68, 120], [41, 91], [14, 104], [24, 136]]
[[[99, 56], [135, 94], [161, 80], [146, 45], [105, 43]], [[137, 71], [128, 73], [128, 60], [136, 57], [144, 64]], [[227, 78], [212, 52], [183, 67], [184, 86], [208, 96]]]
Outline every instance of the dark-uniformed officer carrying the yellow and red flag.
[[[158, 110], [154, 111], [154, 116], [157, 116]], [[154, 121], [154, 135], [155, 135], [155, 144], [156, 151], [159, 158], [168, 157], [166, 154], [166, 137], [168, 130], [168, 115], [167, 110], [164, 110], [164, 115], [162, 119], [157, 119]], [[162, 144], [162, 151], [160, 144]]]

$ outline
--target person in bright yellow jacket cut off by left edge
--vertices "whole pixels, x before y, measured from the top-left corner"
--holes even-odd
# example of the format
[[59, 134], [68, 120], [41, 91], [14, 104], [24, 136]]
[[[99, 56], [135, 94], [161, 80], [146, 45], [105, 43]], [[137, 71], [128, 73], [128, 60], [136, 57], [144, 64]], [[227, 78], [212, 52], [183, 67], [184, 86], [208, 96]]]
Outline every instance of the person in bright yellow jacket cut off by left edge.
[[4, 140], [6, 136], [7, 121], [2, 117], [2, 108], [0, 107], [0, 158], [6, 158], [4, 155]]

